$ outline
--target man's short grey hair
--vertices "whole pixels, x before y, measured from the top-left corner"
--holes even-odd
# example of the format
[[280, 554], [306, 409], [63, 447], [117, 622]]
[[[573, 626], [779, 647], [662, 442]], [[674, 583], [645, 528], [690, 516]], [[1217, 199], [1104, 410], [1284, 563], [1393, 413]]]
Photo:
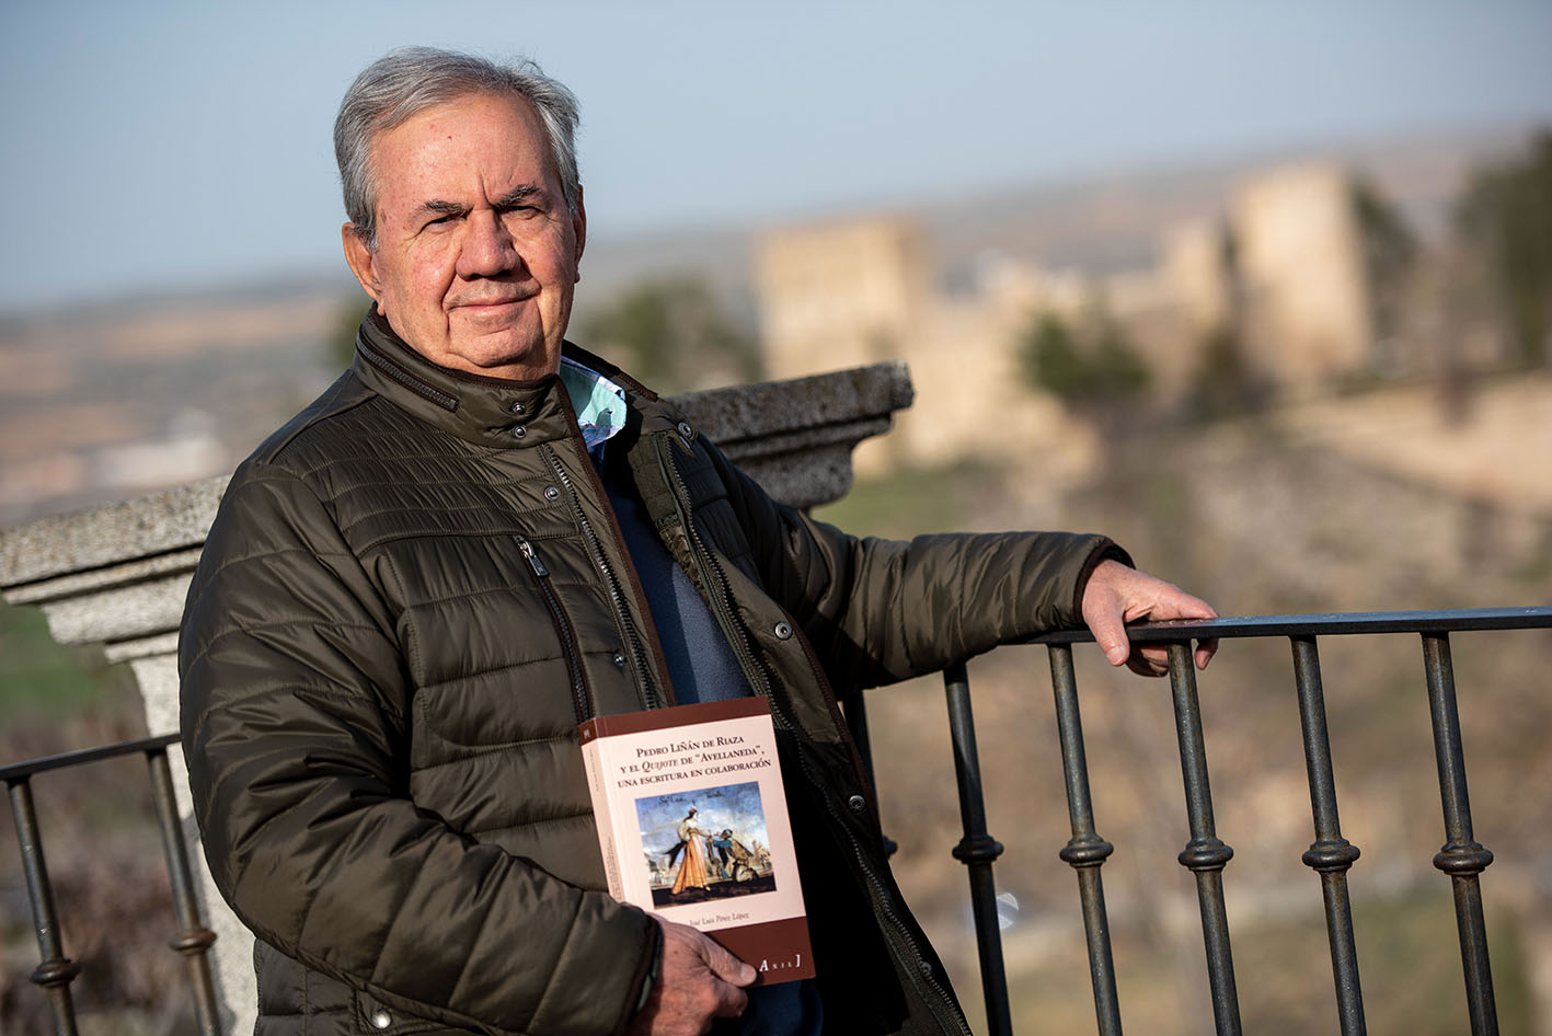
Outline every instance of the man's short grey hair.
[[372, 138], [402, 126], [421, 112], [470, 93], [521, 98], [534, 105], [549, 141], [566, 208], [576, 216], [580, 199], [577, 178], [577, 99], [534, 62], [501, 65], [473, 54], [435, 47], [400, 47], [388, 51], [355, 78], [340, 101], [334, 119], [334, 158], [340, 164], [345, 211], [355, 233], [377, 248], [377, 183], [371, 161]]

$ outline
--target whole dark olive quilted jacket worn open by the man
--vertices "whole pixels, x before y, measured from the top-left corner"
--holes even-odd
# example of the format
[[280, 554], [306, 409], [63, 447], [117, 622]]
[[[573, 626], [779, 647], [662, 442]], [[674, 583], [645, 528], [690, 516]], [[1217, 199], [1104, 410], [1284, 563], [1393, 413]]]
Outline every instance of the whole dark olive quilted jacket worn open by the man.
[[[630, 391], [608, 450], [771, 699], [827, 1031], [965, 1031], [835, 693], [1074, 623], [1117, 551], [844, 535], [577, 355]], [[658, 935], [605, 892], [576, 727], [674, 695], [557, 378], [436, 368], [368, 318], [354, 368], [237, 468], [178, 661], [261, 1036], [624, 1028]]]

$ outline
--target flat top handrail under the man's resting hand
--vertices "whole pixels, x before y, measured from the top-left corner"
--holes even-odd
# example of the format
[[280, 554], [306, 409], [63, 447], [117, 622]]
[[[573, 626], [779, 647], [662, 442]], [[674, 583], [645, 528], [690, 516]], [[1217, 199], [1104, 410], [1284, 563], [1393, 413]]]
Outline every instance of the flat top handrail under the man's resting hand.
[[[1332, 611], [1305, 616], [1231, 616], [1169, 619], [1127, 625], [1133, 641], [1178, 644], [1212, 637], [1297, 637], [1352, 633], [1470, 633], [1473, 630], [1540, 630], [1552, 627], [1552, 606], [1453, 608], [1434, 611]], [[1088, 644], [1088, 630], [1057, 630], [1023, 644]]]

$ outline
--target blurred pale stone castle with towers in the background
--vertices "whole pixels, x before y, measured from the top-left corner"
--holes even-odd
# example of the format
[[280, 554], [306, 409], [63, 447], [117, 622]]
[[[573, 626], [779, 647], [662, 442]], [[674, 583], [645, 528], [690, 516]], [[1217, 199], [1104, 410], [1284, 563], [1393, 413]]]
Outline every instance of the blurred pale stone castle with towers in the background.
[[[1270, 389], [1315, 395], [1381, 366], [1356, 191], [1338, 164], [1276, 167], [1246, 178], [1218, 214], [1161, 234], [1152, 265], [1094, 273], [996, 256], [959, 292], [942, 287], [911, 217], [774, 230], [756, 259], [765, 361], [774, 377], [908, 361], [919, 399], [888, 448], [917, 462], [1032, 440], [1093, 453], [1021, 375], [1020, 340], [1041, 313], [1116, 321], [1150, 371], [1156, 406], [1189, 392], [1215, 337]], [[863, 458], [864, 468], [877, 462]]]

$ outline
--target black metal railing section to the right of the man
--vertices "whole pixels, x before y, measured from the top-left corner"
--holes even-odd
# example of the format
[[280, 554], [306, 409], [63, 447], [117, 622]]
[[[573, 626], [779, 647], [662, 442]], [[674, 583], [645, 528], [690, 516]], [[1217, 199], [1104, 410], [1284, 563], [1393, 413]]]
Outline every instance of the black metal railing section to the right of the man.
[[[1299, 696], [1304, 758], [1310, 780], [1310, 808], [1315, 842], [1302, 855], [1307, 867], [1321, 878], [1325, 929], [1330, 938], [1332, 976], [1336, 983], [1336, 1014], [1342, 1036], [1366, 1031], [1353, 921], [1347, 895], [1347, 870], [1358, 859], [1358, 847], [1342, 837], [1336, 813], [1336, 779], [1332, 769], [1330, 737], [1325, 729], [1325, 701], [1321, 689], [1318, 639], [1355, 633], [1409, 633], [1422, 637], [1423, 673], [1428, 687], [1439, 768], [1439, 794], [1443, 805], [1445, 844], [1432, 864], [1450, 875], [1460, 932], [1460, 958], [1465, 974], [1467, 1010], [1473, 1036], [1498, 1033], [1493, 1000], [1493, 974], [1487, 958], [1487, 926], [1482, 918], [1479, 875], [1493, 862], [1493, 853], [1471, 834], [1471, 805], [1467, 794], [1465, 757], [1460, 748], [1460, 720], [1456, 706], [1450, 634], [1471, 630], [1552, 628], [1552, 608], [1482, 608], [1465, 611], [1392, 611], [1363, 614], [1257, 616], [1249, 619], [1176, 620], [1133, 627], [1135, 642], [1169, 647], [1169, 681], [1180, 740], [1180, 763], [1186, 788], [1189, 841], [1180, 864], [1197, 881], [1203, 943], [1207, 955], [1207, 983], [1218, 1036], [1238, 1036], [1240, 1008], [1234, 983], [1234, 954], [1223, 904], [1223, 869], [1234, 858], [1214, 830], [1212, 788], [1207, 752], [1201, 737], [1201, 710], [1197, 701], [1197, 675], [1192, 668], [1192, 642], [1234, 637], [1287, 637], [1293, 648], [1293, 675]], [[1072, 837], [1060, 851], [1076, 872], [1083, 929], [1088, 943], [1090, 976], [1094, 988], [1094, 1014], [1102, 1036], [1119, 1036], [1121, 1007], [1116, 997], [1114, 960], [1100, 867], [1113, 847], [1094, 828], [1088, 791], [1088, 763], [1083, 755], [1083, 724], [1072, 672], [1072, 644], [1093, 641], [1088, 631], [1054, 633], [1032, 641], [1046, 645], [1051, 656], [1051, 684], [1055, 693], [1057, 727], [1062, 740], [1062, 768], [1066, 779], [1068, 814]], [[972, 915], [981, 958], [987, 1027], [993, 1036], [1013, 1031], [1007, 976], [1003, 968], [1001, 931], [992, 862], [1003, 851], [986, 830], [981, 796], [981, 768], [976, 758], [975, 724], [970, 718], [970, 687], [962, 665], [944, 673], [948, 695], [948, 724], [954, 746], [964, 837], [953, 855], [965, 864], [970, 878]]]

